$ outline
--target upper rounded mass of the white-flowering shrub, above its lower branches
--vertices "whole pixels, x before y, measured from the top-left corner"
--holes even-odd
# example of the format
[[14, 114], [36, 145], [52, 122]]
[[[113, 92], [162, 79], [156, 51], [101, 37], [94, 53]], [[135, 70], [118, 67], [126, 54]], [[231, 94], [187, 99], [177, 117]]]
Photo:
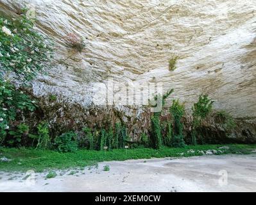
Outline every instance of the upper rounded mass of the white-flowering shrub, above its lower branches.
[[15, 72], [17, 79], [30, 81], [52, 58], [49, 41], [34, 29], [26, 9], [17, 19], [0, 19], [0, 65], [3, 72]]

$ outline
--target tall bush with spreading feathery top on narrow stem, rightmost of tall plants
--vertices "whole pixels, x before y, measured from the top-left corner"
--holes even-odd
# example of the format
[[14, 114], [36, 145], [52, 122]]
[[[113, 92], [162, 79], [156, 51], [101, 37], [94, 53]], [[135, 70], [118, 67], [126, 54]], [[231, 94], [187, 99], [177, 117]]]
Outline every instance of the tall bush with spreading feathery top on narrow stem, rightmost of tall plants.
[[208, 95], [200, 95], [198, 102], [194, 103], [192, 106], [192, 144], [196, 145], [196, 128], [201, 125], [203, 119], [209, 115], [210, 111], [212, 111], [212, 101], [208, 98]]

